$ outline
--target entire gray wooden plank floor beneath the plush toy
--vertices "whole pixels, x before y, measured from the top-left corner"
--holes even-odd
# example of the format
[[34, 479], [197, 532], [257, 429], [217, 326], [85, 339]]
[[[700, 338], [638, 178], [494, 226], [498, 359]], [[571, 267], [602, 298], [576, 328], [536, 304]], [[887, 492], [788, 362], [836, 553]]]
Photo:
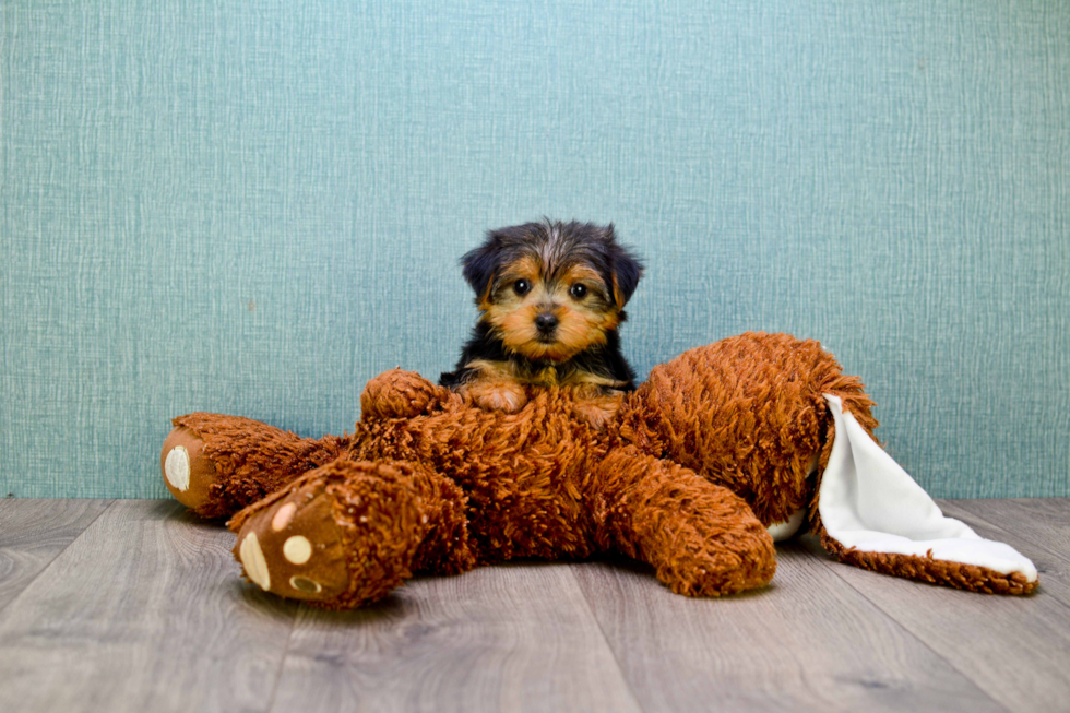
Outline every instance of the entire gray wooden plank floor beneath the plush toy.
[[804, 542], [721, 601], [627, 561], [524, 562], [331, 614], [242, 582], [234, 536], [175, 502], [2, 500], [0, 711], [1070, 711], [1070, 499], [941, 504], [1031, 557], [1038, 592]]

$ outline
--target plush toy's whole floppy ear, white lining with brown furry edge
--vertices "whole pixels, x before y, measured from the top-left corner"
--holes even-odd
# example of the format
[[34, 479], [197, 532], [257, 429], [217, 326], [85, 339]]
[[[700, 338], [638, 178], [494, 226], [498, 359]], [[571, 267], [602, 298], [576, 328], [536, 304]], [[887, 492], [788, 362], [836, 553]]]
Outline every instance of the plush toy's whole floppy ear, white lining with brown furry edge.
[[1033, 562], [943, 516], [839, 396], [825, 400], [834, 427], [818, 488], [817, 532], [827, 550], [857, 567], [964, 590], [1025, 594], [1036, 587]]

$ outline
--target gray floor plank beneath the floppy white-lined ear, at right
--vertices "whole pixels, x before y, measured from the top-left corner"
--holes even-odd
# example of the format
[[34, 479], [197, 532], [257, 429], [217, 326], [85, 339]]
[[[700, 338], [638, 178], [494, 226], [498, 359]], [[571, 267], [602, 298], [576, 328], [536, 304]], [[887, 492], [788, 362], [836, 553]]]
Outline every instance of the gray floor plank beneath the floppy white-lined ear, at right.
[[[951, 516], [978, 534], [1002, 539], [1042, 570], [1036, 593], [1025, 597], [961, 592], [841, 565], [809, 546], [821, 561], [991, 698], [1011, 710], [1063, 712], [1070, 701], [1070, 596], [1065, 565], [1018, 536], [987, 525], [941, 501]], [[1008, 536], [1001, 536], [1001, 535]], [[1046, 571], [1045, 571], [1046, 570]], [[1056, 595], [1058, 594], [1058, 595]]]

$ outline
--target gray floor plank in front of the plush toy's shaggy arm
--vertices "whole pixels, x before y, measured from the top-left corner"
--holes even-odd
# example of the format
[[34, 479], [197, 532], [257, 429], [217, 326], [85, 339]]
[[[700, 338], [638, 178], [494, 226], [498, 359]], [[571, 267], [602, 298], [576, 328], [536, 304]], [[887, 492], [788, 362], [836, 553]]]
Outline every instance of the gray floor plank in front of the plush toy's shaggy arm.
[[626, 562], [575, 566], [647, 711], [1002, 711], [797, 545], [765, 590], [694, 599]]

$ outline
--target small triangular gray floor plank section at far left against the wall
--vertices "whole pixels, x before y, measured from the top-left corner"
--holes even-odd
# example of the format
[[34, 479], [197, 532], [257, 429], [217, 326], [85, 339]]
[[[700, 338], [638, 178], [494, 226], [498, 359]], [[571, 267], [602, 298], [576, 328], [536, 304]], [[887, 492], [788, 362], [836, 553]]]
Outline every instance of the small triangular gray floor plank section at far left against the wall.
[[109, 504], [110, 500], [0, 500], [0, 609]]

